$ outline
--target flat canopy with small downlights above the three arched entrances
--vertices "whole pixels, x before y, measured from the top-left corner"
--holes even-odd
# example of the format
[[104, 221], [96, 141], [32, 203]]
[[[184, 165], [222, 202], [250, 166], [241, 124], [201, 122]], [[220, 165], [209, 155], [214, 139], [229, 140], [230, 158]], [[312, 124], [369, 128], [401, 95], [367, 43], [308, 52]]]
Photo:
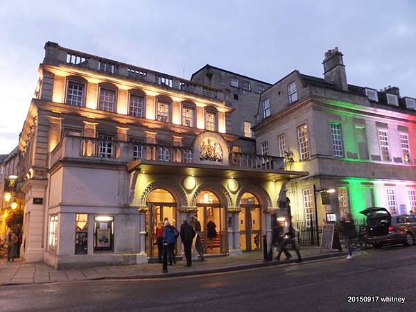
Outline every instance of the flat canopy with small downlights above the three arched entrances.
[[306, 171], [286, 171], [279, 169], [218, 166], [208, 164], [184, 164], [180, 162], [159, 162], [153, 160], [136, 160], [128, 164], [128, 171], [131, 172], [137, 169], [143, 173], [150, 174], [227, 177], [261, 181], [279, 181], [309, 175]]

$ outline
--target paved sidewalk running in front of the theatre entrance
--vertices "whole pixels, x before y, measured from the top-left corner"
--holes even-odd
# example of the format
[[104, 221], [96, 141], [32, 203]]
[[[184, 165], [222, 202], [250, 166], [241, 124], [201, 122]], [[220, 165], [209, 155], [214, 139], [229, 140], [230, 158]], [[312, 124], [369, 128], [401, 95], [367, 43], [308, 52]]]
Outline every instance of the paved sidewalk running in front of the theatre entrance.
[[[345, 256], [346, 252], [328, 252], [315, 246], [302, 246], [300, 250], [304, 261]], [[291, 250], [293, 258], [290, 261], [263, 262], [263, 252], [247, 252], [239, 256], [211, 257], [207, 261], [193, 261], [191, 268], [184, 267], [184, 261], [178, 261], [174, 266], [168, 266], [168, 273], [162, 273], [160, 263], [142, 263], [130, 266], [100, 266], [96, 268], [73, 268], [55, 270], [44, 263], [25, 263], [17, 260], [7, 262], [0, 259], [0, 286], [11, 284], [38, 284], [57, 281], [85, 281], [94, 279], [145, 279], [160, 277], [177, 277], [200, 275], [215, 272], [227, 272], [275, 266], [295, 262], [297, 257]], [[281, 257], [284, 259], [284, 255]]]

